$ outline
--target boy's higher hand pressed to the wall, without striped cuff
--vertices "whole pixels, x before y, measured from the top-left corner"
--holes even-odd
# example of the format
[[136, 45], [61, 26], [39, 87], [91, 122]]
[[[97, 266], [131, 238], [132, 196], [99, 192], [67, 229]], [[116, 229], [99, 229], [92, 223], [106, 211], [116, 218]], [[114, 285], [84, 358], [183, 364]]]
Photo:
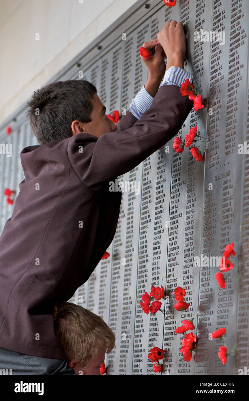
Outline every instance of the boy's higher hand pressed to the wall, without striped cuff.
[[166, 22], [157, 37], [167, 57], [166, 70], [172, 66], [184, 69], [186, 38], [182, 22]]

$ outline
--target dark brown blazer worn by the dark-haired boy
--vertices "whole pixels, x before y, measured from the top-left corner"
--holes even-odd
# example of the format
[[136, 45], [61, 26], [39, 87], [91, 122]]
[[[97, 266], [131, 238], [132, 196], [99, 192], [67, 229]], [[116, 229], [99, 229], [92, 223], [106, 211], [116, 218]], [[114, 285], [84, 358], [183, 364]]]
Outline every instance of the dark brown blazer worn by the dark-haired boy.
[[22, 150], [25, 179], [0, 236], [0, 347], [66, 359], [53, 304], [87, 281], [114, 237], [121, 192], [109, 181], [174, 137], [192, 107], [180, 87], [164, 85], [140, 120], [128, 111], [116, 132]]

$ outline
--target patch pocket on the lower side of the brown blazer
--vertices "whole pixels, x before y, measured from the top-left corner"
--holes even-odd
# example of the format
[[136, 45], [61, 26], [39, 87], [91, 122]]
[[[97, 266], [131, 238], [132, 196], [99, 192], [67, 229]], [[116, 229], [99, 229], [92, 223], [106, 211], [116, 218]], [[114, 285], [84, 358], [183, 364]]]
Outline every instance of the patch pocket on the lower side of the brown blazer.
[[38, 346], [59, 346], [54, 332], [54, 301], [54, 289], [34, 277], [16, 313], [14, 335], [19, 341]]

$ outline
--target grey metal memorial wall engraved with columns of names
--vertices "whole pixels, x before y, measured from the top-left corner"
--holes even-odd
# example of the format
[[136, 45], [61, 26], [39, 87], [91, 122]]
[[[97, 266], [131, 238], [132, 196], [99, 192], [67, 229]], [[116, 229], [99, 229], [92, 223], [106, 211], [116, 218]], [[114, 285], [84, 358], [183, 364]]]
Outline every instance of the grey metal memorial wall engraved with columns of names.
[[[172, 139], [118, 177], [119, 182], [136, 182], [136, 190], [122, 191], [109, 256], [70, 301], [101, 316], [115, 333], [115, 348], [105, 361], [107, 375], [238, 375], [239, 369], [249, 367], [249, 2], [148, 4], [103, 35], [98, 49], [75, 62], [59, 80], [91, 81], [107, 113], [118, 110], [122, 118], [147, 80], [139, 48], [157, 38], [166, 21], [181, 21], [187, 37], [184, 67], [207, 105], [192, 109], [177, 136], [185, 140], [197, 125], [202, 140], [207, 140], [205, 157], [198, 162], [189, 148], [177, 153]], [[218, 40], [212, 41], [212, 32], [219, 32]], [[0, 188], [18, 188], [23, 179], [19, 153], [37, 144], [22, 115], [13, 136], [16, 157], [0, 158]], [[202, 150], [205, 142], [196, 146]], [[2, 204], [3, 228], [11, 208]], [[236, 252], [229, 258], [233, 269], [223, 272], [221, 288], [216, 262], [231, 242]], [[140, 302], [152, 285], [163, 286], [165, 296], [161, 311], [146, 314]], [[174, 308], [177, 287], [186, 291], [186, 311]], [[193, 317], [196, 350], [186, 361], [180, 348], [189, 331], [175, 330]], [[223, 340], [211, 338], [223, 327], [229, 353], [225, 364], [218, 356]], [[165, 351], [159, 373], [148, 358], [154, 346]]]

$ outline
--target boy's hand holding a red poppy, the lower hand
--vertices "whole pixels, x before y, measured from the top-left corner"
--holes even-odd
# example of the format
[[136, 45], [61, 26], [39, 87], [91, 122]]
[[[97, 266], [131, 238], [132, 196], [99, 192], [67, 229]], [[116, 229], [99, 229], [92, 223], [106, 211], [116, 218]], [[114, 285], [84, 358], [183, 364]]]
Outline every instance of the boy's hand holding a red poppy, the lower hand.
[[[164, 61], [164, 49], [160, 45], [160, 42], [158, 39], [152, 39], [150, 42], [144, 42], [143, 47], [146, 47], [148, 49], [149, 47], [155, 46], [155, 53], [152, 53], [152, 50], [149, 50], [150, 57], [149, 59], [144, 59], [144, 57], [140, 56], [141, 59], [143, 60], [144, 64], [148, 68], [149, 71], [149, 77], [151, 81], [154, 82], [161, 82], [164, 73], [166, 70], [166, 65]], [[164, 56], [164, 57], [163, 57]]]

